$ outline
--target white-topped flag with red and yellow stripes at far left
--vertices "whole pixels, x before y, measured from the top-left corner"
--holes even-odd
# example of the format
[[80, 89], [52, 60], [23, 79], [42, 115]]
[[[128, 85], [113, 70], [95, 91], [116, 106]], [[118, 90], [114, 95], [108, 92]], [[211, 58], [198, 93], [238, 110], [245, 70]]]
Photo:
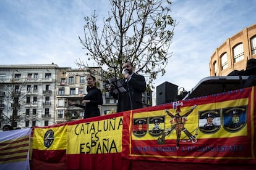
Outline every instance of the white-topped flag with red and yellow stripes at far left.
[[31, 129], [0, 132], [0, 169], [30, 169]]

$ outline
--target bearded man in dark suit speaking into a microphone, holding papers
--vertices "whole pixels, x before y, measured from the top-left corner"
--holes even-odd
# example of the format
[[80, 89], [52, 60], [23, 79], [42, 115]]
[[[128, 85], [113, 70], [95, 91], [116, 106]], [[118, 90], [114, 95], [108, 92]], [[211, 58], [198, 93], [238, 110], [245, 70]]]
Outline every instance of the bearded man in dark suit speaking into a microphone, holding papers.
[[142, 92], [146, 90], [145, 78], [134, 73], [131, 62], [125, 62], [122, 68], [124, 70], [122, 86], [126, 92], [116, 94], [113, 92], [113, 86], [109, 86], [109, 94], [118, 100], [117, 112], [142, 108]]

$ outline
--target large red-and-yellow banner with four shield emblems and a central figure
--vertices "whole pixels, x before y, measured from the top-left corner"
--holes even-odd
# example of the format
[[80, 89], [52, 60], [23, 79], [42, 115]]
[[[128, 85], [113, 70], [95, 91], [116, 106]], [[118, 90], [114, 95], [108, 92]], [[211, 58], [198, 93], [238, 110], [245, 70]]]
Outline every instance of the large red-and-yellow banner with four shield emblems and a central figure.
[[126, 114], [122, 156], [186, 163], [256, 163], [254, 97], [254, 88], [247, 88]]

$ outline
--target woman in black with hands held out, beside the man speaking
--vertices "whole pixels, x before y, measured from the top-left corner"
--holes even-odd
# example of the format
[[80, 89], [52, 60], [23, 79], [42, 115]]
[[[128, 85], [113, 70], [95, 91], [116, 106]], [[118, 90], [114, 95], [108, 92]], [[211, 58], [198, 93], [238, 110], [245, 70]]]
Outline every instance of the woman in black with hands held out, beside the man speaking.
[[96, 87], [95, 76], [87, 76], [87, 84], [87, 95], [83, 97], [83, 105], [74, 102], [69, 102], [69, 105], [75, 105], [77, 107], [84, 108], [85, 115], [83, 118], [100, 116], [100, 109], [98, 108], [98, 105], [102, 105], [103, 99], [100, 89]]

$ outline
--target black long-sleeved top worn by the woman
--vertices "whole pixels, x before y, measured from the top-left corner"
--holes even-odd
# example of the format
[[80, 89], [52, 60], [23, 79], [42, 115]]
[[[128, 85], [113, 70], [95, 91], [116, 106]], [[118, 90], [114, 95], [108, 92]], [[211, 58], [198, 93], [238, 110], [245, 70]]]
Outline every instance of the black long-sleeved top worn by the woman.
[[92, 118], [95, 116], [100, 116], [100, 109], [98, 105], [102, 105], [102, 93], [100, 89], [96, 87], [92, 87], [88, 90], [88, 94], [83, 97], [83, 100], [90, 100], [90, 102], [84, 105], [75, 104], [77, 107], [81, 107], [85, 109], [85, 115], [83, 118]]

